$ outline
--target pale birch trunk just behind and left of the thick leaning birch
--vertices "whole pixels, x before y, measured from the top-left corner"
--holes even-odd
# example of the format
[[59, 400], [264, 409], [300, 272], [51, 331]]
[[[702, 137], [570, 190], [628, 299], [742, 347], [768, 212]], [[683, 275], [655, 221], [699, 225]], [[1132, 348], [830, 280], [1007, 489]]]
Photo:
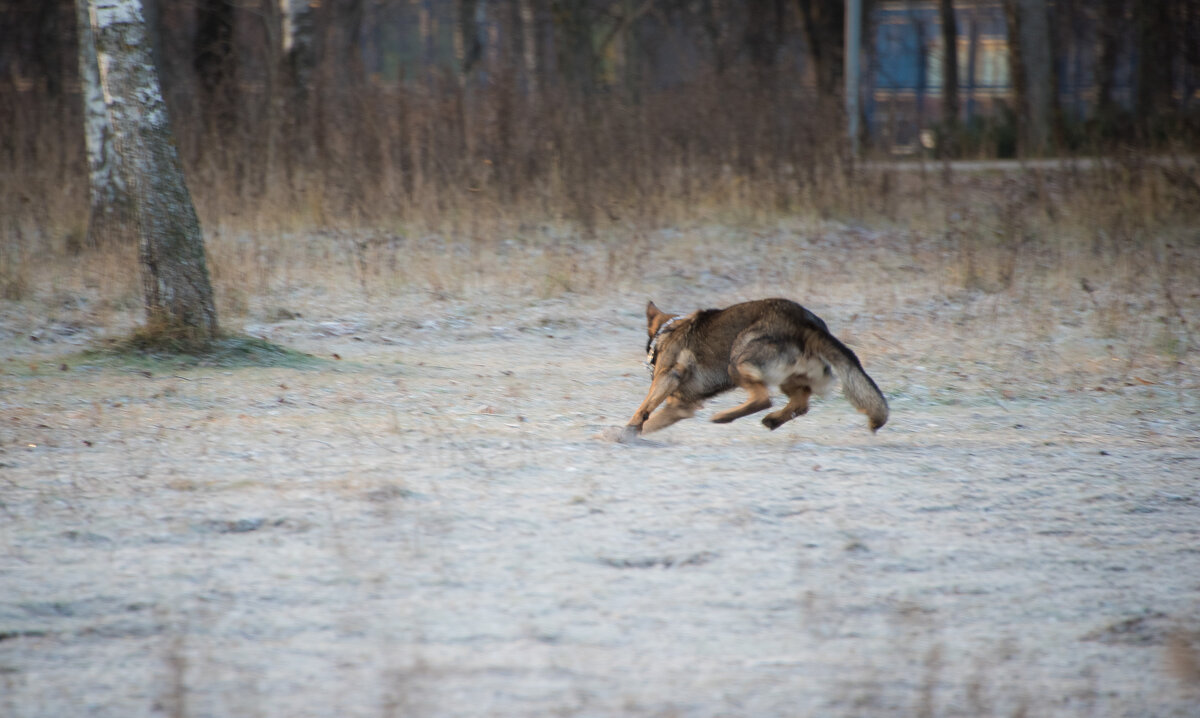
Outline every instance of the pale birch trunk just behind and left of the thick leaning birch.
[[85, 244], [95, 249], [119, 241], [133, 241], [133, 197], [130, 195], [121, 156], [113, 146], [113, 127], [108, 122], [108, 108], [100, 88], [96, 41], [91, 34], [88, 0], [76, 0], [76, 24], [79, 35], [84, 139], [91, 180]]

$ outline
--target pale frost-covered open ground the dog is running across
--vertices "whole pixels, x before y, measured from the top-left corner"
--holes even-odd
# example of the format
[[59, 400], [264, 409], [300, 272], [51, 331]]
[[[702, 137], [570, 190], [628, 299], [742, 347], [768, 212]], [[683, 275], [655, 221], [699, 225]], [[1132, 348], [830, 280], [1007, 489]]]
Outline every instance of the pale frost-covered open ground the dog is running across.
[[[85, 359], [103, 327], [5, 305], [0, 714], [1200, 716], [1195, 354], [1082, 291], [763, 246], [238, 321], [307, 367]], [[708, 423], [727, 395], [607, 439], [646, 298], [769, 294], [859, 353], [878, 435], [840, 395]]]

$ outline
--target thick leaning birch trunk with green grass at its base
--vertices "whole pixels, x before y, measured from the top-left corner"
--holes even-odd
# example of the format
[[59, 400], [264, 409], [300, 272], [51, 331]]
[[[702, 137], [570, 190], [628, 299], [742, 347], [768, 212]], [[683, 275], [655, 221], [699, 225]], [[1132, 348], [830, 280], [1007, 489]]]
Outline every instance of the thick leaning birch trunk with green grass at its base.
[[140, 0], [89, 0], [100, 84], [133, 198], [146, 319], [188, 343], [217, 333], [204, 237], [184, 183]]

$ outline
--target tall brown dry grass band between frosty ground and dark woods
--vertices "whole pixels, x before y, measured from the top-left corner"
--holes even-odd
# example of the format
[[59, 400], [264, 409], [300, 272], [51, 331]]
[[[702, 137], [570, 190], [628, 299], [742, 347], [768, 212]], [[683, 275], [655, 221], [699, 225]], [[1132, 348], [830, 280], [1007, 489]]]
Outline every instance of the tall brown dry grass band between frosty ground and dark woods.
[[[331, 88], [302, 106], [253, 88], [240, 97], [223, 133], [185, 114], [186, 102], [172, 107], [226, 316], [283, 303], [296, 286], [368, 298], [601, 292], [636, 281], [665, 228], [686, 243], [690, 228], [724, 227], [752, 255], [756, 229], [798, 221], [799, 232], [883, 232], [892, 258], [878, 267], [919, 267], [944, 293], [1033, 305], [1084, 291], [1112, 334], [1144, 310], [1133, 298], [1150, 295], [1176, 337], [1164, 351], [1193, 348], [1190, 157], [1126, 151], [1016, 169], [852, 161], [838, 109], [785, 73], [653, 92], [530, 96], [504, 78], [432, 78]], [[101, 315], [133, 311], [132, 249], [83, 250], [71, 100], [2, 110], [0, 295], [56, 306], [86, 293]], [[878, 275], [872, 261], [854, 257], [846, 271]]]

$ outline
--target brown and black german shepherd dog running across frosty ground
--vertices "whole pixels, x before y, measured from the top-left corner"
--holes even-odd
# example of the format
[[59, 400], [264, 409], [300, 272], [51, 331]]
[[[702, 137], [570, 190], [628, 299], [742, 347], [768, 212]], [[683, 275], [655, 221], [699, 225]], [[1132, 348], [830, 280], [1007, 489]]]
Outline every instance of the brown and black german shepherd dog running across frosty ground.
[[646, 323], [646, 363], [654, 378], [622, 441], [686, 419], [706, 399], [734, 387], [745, 389], [749, 399], [713, 421], [725, 424], [770, 407], [770, 387], [779, 387], [787, 406], [762, 419], [774, 431], [808, 412], [809, 396], [826, 394], [834, 375], [850, 403], [866, 414], [871, 431], [888, 420], [888, 402], [854, 352], [829, 334], [821, 317], [794, 301], [760, 299], [688, 316], [664, 312], [652, 301]]

